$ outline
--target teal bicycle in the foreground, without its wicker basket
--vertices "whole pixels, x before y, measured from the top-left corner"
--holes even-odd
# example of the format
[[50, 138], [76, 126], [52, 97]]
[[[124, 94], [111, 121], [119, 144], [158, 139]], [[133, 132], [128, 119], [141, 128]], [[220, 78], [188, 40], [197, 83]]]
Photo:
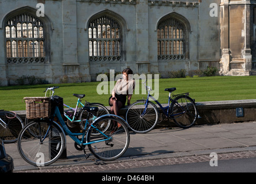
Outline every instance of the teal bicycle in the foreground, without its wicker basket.
[[[55, 97], [51, 97], [51, 102], [56, 99]], [[90, 114], [88, 116], [93, 116], [91, 113], [98, 110], [97, 107], [85, 107], [84, 109]], [[54, 106], [54, 112], [50, 117], [35, 117], [34, 121], [25, 125], [18, 136], [18, 152], [29, 164], [49, 166], [60, 158], [66, 147], [65, 135], [68, 135], [75, 141], [75, 147], [80, 147], [84, 151], [86, 158], [89, 156], [84, 150], [86, 145], [96, 158], [103, 161], [120, 158], [127, 150], [130, 141], [125, 120], [114, 114], [106, 114], [98, 118], [93, 116], [92, 119], [92, 123], [86, 120], [82, 132], [72, 133], [66, 126], [58, 106]], [[112, 124], [109, 129], [102, 132], [100, 125], [109, 120], [118, 122], [118, 126]], [[94, 131], [97, 131], [99, 135], [93, 136]], [[80, 139], [79, 136], [81, 136]]]

